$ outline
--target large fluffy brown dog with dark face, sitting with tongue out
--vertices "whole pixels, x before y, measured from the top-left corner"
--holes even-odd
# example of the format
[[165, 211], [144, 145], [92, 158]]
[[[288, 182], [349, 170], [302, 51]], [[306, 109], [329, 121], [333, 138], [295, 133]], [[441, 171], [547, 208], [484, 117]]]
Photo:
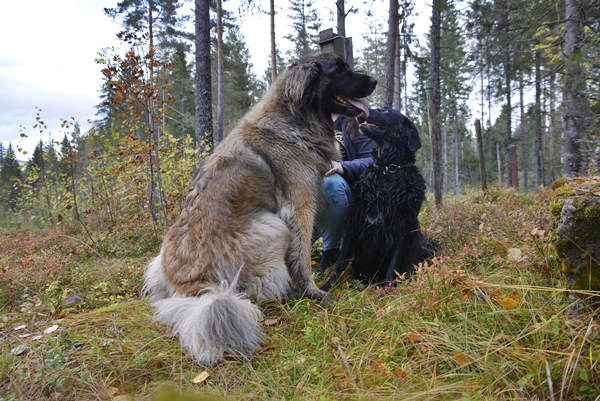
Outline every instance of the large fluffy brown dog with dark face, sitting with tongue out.
[[148, 266], [144, 292], [160, 321], [202, 363], [259, 345], [257, 300], [322, 299], [310, 242], [323, 174], [334, 158], [332, 114], [356, 117], [377, 81], [332, 53], [284, 71], [199, 168], [185, 209]]

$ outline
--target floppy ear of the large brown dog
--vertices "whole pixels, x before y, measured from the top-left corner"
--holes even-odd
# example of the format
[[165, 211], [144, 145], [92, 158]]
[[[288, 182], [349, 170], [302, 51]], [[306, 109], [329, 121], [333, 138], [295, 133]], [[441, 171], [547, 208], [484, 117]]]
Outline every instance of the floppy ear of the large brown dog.
[[317, 62], [294, 63], [289, 67], [285, 80], [285, 93], [299, 109], [312, 100], [318, 90], [317, 82], [321, 78], [322, 68]]

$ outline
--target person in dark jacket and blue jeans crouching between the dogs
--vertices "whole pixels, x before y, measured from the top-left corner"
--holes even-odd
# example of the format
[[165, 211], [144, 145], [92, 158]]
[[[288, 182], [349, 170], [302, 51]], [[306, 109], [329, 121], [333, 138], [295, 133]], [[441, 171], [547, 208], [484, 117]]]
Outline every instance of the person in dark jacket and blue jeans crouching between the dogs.
[[315, 234], [323, 238], [323, 253], [316, 273], [322, 274], [337, 261], [348, 206], [350, 187], [373, 164], [375, 142], [360, 133], [356, 118], [340, 117], [335, 122], [341, 160], [332, 160], [325, 173], [325, 202], [315, 217]]

